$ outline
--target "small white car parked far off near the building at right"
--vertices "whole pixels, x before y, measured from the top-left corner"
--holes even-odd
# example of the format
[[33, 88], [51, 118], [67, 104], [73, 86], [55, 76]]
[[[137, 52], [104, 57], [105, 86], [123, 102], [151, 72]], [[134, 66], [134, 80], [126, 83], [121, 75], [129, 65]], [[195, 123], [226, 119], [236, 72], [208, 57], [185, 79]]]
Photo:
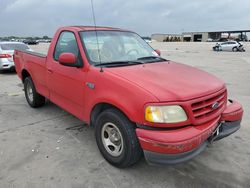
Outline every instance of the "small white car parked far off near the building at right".
[[213, 50], [214, 51], [233, 51], [233, 52], [245, 51], [243, 44], [237, 41], [227, 41], [227, 42], [216, 43], [216, 45], [213, 47]]

